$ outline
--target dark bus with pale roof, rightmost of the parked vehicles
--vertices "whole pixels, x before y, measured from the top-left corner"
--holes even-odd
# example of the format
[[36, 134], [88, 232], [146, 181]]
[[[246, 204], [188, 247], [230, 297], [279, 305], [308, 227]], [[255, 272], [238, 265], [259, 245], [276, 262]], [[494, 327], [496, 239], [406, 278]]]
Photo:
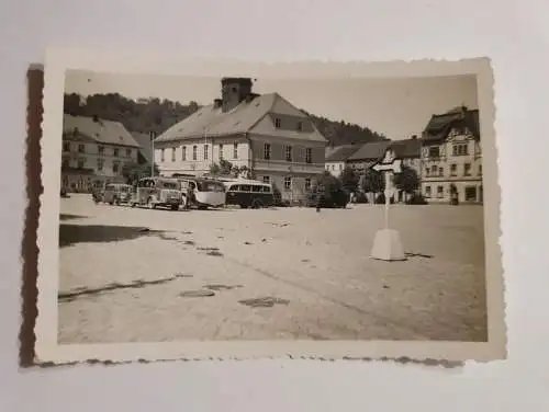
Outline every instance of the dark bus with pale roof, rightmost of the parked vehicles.
[[227, 205], [238, 205], [243, 209], [269, 207], [274, 204], [274, 195], [272, 186], [268, 183], [262, 183], [246, 179], [227, 179], [223, 184], [226, 190]]

